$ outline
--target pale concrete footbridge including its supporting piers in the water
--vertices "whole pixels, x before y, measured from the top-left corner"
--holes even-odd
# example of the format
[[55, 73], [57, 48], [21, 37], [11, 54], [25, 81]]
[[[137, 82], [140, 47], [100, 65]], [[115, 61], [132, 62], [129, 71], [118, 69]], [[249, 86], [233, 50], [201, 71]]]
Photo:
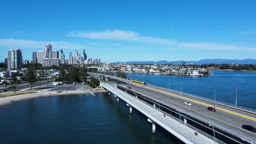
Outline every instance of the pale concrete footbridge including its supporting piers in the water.
[[[157, 123], [184, 143], [221, 143], [221, 141], [207, 134], [198, 133], [195, 135], [195, 129], [191, 125], [188, 127], [185, 120], [176, 119], [168, 113], [158, 110], [155, 105], [149, 105], [137, 97], [132, 97], [126, 92], [120, 91], [117, 86], [109, 85], [109, 83], [101, 83], [100, 86], [106, 89], [109, 95], [114, 95], [117, 98], [117, 102], [119, 102], [119, 99], [124, 100], [126, 105], [129, 106], [130, 113], [132, 113], [132, 109], [136, 109], [147, 116], [147, 121], [152, 123], [152, 133], [156, 132], [155, 124]], [[164, 113], [166, 116], [164, 116]]]

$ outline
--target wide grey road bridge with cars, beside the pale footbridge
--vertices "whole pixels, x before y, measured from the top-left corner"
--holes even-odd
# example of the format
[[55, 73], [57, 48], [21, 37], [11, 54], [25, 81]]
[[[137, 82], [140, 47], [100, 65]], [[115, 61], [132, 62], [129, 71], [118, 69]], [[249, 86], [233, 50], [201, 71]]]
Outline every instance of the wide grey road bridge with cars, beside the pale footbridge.
[[[95, 74], [91, 75], [95, 76]], [[256, 113], [253, 110], [248, 111], [221, 103], [214, 103], [211, 100], [201, 99], [189, 94], [181, 94], [165, 88], [138, 85], [115, 76], [101, 76], [106, 76], [107, 79], [111, 80], [112, 84], [108, 85], [108, 88], [112, 87], [116, 91], [120, 91], [122, 95], [127, 94], [127, 97], [129, 95], [130, 98], [135, 98], [144, 105], [153, 107], [162, 113], [162, 118], [164, 118], [163, 113], [166, 113], [168, 117], [178, 121], [178, 123], [187, 125], [186, 127], [192, 129], [192, 131], [197, 130], [200, 135], [210, 137], [211, 140], [218, 143], [256, 143], [256, 133], [241, 128], [242, 124], [256, 127]], [[107, 89], [106, 86], [104, 89]], [[109, 91], [109, 89], [107, 90]], [[110, 93], [113, 94], [113, 92]], [[122, 99], [120, 94], [114, 95]], [[184, 105], [184, 101], [190, 101], [193, 105]], [[213, 106], [213, 104], [216, 106], [216, 112], [206, 110], [207, 106]], [[131, 104], [128, 105], [131, 106]], [[152, 119], [150, 120], [155, 122]], [[171, 126], [173, 126], [172, 124], [171, 122]], [[191, 142], [192, 140], [196, 141], [196, 143], [204, 143], [196, 140], [193, 135], [189, 141]]]

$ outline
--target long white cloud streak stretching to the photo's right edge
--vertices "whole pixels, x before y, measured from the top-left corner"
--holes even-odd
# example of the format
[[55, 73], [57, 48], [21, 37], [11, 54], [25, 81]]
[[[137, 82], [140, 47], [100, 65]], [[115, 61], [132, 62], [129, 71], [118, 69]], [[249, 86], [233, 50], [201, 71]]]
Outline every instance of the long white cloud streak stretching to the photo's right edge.
[[[252, 33], [247, 31], [244, 33]], [[222, 50], [222, 51], [256, 51], [255, 47], [234, 45], [234, 44], [219, 44], [219, 43], [184, 43], [182, 41], [177, 41], [173, 39], [163, 39], [154, 37], [144, 37], [137, 32], [133, 31], [121, 31], [115, 29], [113, 31], [102, 31], [102, 32], [70, 32], [66, 34], [67, 37], [79, 37], [88, 39], [104, 39], [104, 40], [119, 40], [125, 42], [136, 42], [136, 43], [146, 43], [154, 45], [164, 45], [166, 50], [178, 50], [178, 49], [200, 49], [200, 50]], [[124, 44], [125, 45], [125, 44]], [[145, 46], [144, 46], [145, 47]], [[156, 48], [158, 46], [155, 46]], [[162, 46], [160, 46], [162, 47]], [[176, 47], [175, 49], [172, 47]], [[141, 49], [141, 47], [127, 47], [126, 49], [134, 50]]]

